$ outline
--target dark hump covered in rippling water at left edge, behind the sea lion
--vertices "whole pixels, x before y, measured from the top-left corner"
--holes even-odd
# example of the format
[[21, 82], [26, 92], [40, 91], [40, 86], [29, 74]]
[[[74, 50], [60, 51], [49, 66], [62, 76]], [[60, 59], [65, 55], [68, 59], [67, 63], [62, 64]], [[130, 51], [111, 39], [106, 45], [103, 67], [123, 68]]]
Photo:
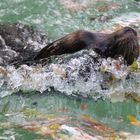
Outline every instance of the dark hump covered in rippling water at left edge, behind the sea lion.
[[45, 33], [20, 23], [0, 24], [0, 65], [32, 60], [48, 44]]

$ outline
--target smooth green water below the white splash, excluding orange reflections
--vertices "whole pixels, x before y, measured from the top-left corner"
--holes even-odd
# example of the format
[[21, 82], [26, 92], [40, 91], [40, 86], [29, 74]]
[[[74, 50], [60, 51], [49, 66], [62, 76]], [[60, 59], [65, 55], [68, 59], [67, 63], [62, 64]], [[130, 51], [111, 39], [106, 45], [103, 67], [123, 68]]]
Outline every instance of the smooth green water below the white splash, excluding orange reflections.
[[[47, 93], [46, 93], [47, 94]], [[86, 105], [87, 108], [81, 108], [81, 105]], [[31, 122], [32, 120], [38, 120], [37, 116], [26, 114], [25, 116], [11, 115], [4, 117], [4, 114], [14, 114], [24, 109], [36, 109], [45, 115], [55, 115], [56, 117], [71, 116], [74, 118], [74, 122], [79, 122], [82, 126], [79, 116], [86, 114], [92, 118], [100, 121], [108, 127], [113, 128], [116, 132], [126, 131], [133, 132], [133, 134], [139, 134], [140, 128], [133, 126], [129, 123], [127, 116], [133, 115], [140, 119], [140, 105], [133, 101], [124, 101], [111, 103], [110, 101], [93, 101], [91, 99], [75, 99], [73, 97], [67, 97], [59, 93], [53, 93], [52, 95], [12, 95], [2, 99], [0, 103], [0, 120], [1, 122], [10, 122], [11, 124], [21, 125], [23, 122]], [[65, 111], [63, 109], [67, 109]], [[2, 111], [4, 110], [4, 111]], [[17, 117], [18, 116], [18, 117]], [[71, 124], [73, 124], [71, 122]], [[75, 126], [73, 124], [73, 126]], [[6, 132], [10, 132], [6, 134]], [[41, 139], [40, 135], [33, 132], [25, 131], [24, 129], [16, 129], [14, 125], [11, 128], [1, 128], [0, 136], [12, 136], [15, 138], [26, 139]], [[42, 137], [43, 138], [43, 137]]]

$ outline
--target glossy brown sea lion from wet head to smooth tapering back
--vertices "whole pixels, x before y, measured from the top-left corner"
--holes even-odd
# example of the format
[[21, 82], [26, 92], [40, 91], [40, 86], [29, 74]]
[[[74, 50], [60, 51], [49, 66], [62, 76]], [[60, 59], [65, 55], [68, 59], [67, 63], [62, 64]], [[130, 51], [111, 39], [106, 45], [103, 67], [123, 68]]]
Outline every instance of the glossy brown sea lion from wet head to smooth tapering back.
[[34, 59], [74, 53], [82, 49], [93, 49], [105, 58], [123, 56], [127, 65], [131, 65], [139, 56], [137, 32], [130, 27], [124, 27], [111, 34], [79, 30], [50, 43]]

